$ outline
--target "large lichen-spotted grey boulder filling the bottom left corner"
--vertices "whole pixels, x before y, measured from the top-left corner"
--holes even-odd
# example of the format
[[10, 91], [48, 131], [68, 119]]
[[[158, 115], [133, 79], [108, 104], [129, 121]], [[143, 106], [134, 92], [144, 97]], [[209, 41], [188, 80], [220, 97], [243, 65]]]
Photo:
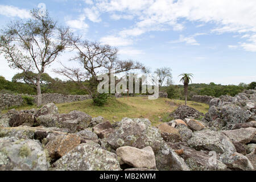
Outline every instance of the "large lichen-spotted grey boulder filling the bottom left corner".
[[47, 171], [46, 152], [36, 140], [0, 138], [0, 171]]

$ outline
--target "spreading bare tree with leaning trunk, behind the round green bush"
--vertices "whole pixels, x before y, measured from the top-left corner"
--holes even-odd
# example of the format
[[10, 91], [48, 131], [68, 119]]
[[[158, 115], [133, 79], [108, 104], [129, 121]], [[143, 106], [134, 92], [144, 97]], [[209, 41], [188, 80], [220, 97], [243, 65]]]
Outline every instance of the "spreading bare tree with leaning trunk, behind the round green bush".
[[97, 77], [101, 74], [118, 74], [129, 72], [134, 69], [143, 69], [141, 63], [133, 60], [119, 60], [117, 57], [118, 49], [108, 45], [101, 45], [99, 42], [80, 41], [79, 38], [72, 39], [72, 46], [77, 51], [77, 56], [71, 61], [78, 61], [84, 70], [79, 68], [68, 68], [63, 65], [63, 69], [54, 71], [60, 75], [68, 77], [70, 80], [80, 84], [92, 96], [93, 90], [82, 84], [83, 80], [92, 80], [95, 84], [99, 81]]

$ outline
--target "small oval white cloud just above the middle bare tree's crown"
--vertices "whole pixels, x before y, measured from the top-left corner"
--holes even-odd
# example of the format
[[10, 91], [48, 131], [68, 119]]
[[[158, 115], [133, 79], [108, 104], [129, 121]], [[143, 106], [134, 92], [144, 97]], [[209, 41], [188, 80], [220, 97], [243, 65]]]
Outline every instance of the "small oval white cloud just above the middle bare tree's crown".
[[124, 39], [118, 36], [104, 36], [100, 39], [102, 44], [108, 44], [109, 46], [130, 46], [133, 44], [133, 41], [130, 39]]

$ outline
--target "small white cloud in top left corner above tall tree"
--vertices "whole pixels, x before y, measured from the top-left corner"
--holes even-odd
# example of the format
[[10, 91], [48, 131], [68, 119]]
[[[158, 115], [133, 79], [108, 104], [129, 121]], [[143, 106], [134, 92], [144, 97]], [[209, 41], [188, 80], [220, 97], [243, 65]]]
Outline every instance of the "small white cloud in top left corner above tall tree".
[[31, 18], [30, 12], [14, 6], [0, 5], [0, 15], [8, 17]]

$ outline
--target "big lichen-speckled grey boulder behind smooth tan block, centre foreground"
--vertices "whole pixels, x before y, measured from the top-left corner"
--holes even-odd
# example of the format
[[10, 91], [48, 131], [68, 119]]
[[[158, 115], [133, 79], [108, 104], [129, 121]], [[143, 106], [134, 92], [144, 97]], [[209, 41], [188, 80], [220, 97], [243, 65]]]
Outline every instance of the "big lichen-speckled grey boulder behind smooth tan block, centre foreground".
[[159, 150], [163, 139], [159, 130], [151, 127], [148, 119], [123, 118], [121, 122], [118, 122], [115, 131], [106, 138], [106, 142], [114, 150], [122, 146], [139, 149], [151, 146], [156, 152]]

